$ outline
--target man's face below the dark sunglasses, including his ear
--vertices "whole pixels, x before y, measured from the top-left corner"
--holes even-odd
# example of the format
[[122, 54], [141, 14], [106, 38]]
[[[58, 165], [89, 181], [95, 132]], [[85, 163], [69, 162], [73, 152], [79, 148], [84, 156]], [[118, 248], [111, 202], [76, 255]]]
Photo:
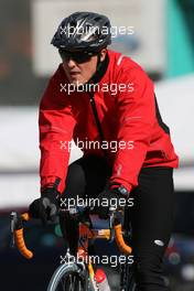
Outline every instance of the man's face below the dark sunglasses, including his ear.
[[[105, 60], [106, 50], [100, 52], [100, 61]], [[76, 62], [73, 57], [63, 58], [63, 67], [71, 84], [83, 85], [95, 74], [98, 56], [90, 56], [84, 62]]]

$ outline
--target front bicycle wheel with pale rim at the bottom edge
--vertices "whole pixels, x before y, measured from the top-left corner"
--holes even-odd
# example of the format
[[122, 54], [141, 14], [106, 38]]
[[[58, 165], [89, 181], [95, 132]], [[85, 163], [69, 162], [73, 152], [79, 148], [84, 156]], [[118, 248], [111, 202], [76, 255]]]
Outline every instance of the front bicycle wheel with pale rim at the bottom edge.
[[[73, 276], [77, 281], [74, 280], [74, 287], [68, 288], [68, 277]], [[77, 288], [77, 282], [80, 282]], [[63, 287], [62, 287], [63, 282]], [[86, 282], [87, 283], [87, 282]], [[79, 267], [76, 263], [61, 265], [53, 273], [47, 291], [85, 291], [87, 290], [83, 278], [79, 276]]]

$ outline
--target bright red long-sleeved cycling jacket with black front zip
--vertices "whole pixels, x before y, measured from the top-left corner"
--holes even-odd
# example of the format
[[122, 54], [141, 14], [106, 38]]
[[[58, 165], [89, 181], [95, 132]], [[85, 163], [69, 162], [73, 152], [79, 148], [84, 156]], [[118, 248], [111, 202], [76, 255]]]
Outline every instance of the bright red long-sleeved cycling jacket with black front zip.
[[131, 58], [108, 51], [108, 60], [94, 94], [73, 91], [68, 95], [64, 89], [68, 80], [62, 64], [50, 79], [39, 118], [42, 186], [60, 177], [63, 192], [69, 160], [67, 144], [72, 139], [83, 141], [84, 154], [99, 155], [105, 150], [89, 149], [89, 141], [100, 143], [104, 138], [109, 143], [120, 142], [117, 151], [106, 149], [112, 166], [110, 181], [129, 191], [138, 185], [142, 166], [177, 166], [179, 159], [169, 128], [161, 119], [152, 82]]

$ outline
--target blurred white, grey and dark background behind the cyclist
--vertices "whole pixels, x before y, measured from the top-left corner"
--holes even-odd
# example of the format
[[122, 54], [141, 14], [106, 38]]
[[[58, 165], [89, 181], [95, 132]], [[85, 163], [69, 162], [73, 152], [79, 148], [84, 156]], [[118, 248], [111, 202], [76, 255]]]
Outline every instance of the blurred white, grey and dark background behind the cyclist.
[[[10, 248], [9, 213], [39, 196], [39, 103], [60, 63], [50, 42], [64, 17], [84, 10], [107, 14], [115, 28], [111, 48], [154, 80], [180, 155], [165, 272], [171, 290], [194, 290], [194, 0], [0, 0], [0, 290], [46, 290], [63, 255], [57, 226], [37, 224], [26, 229], [35, 258], [22, 259]], [[119, 34], [121, 26], [132, 33]], [[71, 162], [80, 154], [74, 148]]]

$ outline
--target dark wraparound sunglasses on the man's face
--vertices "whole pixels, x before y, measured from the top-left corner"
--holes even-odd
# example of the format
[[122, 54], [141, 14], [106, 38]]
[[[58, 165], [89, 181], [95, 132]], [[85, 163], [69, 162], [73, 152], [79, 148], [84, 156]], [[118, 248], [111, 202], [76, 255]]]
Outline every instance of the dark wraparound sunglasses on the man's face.
[[93, 55], [96, 55], [94, 53], [86, 53], [86, 52], [68, 52], [65, 50], [58, 50], [58, 53], [63, 61], [69, 61], [73, 60], [78, 64], [88, 62]]

